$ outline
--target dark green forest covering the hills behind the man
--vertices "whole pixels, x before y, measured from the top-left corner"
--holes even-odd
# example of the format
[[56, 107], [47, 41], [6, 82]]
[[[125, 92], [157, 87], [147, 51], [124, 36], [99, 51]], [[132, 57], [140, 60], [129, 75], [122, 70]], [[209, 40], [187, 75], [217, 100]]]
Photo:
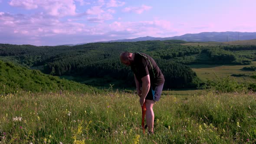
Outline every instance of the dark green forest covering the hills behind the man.
[[[163, 72], [165, 88], [197, 88], [202, 85], [188, 65], [248, 65], [256, 59], [256, 46], [186, 46], [181, 40], [88, 43], [77, 46], [0, 44], [0, 59], [77, 82], [120, 88], [134, 86], [129, 67], [119, 62], [121, 52], [150, 55]], [[88, 79], [95, 83], [86, 83]], [[98, 82], [98, 78], [101, 79]]]

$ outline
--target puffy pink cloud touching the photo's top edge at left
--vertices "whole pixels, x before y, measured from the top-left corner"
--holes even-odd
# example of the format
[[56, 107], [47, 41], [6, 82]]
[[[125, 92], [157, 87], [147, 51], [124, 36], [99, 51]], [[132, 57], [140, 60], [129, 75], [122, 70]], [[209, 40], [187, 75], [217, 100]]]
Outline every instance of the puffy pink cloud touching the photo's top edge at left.
[[43, 8], [51, 16], [74, 16], [76, 14], [73, 0], [11, 0], [9, 4], [27, 10]]

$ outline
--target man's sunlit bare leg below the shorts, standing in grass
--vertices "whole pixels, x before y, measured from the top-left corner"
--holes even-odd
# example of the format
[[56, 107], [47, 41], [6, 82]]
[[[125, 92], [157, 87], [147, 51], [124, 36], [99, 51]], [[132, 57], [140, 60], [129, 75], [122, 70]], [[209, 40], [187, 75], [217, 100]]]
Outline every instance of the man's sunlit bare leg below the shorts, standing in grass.
[[145, 100], [145, 104], [146, 104], [146, 121], [147, 121], [147, 125], [148, 125], [148, 131], [150, 132], [154, 132], [153, 128], [154, 128], [154, 111], [153, 111], [153, 105], [154, 105], [153, 100]]

